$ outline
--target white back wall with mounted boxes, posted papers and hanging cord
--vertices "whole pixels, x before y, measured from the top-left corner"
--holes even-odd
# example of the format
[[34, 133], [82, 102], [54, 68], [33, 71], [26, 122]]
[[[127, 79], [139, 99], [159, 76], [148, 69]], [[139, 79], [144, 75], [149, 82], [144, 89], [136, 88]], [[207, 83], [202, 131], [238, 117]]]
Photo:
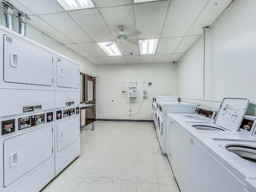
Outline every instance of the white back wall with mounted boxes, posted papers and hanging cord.
[[[97, 71], [97, 119], [152, 120], [152, 96], [177, 94], [176, 64], [97, 66]], [[140, 102], [131, 104], [132, 114], [137, 112], [142, 102], [142, 82], [152, 82], [152, 88], [148, 88], [148, 96], [140, 111], [135, 116], [129, 116], [130, 103], [126, 98], [121, 98], [121, 84], [133, 81], [139, 82]]]

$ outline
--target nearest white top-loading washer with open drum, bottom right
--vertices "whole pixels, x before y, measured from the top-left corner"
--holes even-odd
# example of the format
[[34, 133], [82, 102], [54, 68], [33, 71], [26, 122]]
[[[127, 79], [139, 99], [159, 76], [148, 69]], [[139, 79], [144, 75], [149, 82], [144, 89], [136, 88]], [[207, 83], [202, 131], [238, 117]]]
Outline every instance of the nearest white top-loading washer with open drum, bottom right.
[[190, 192], [240, 192], [256, 179], [255, 136], [197, 133], [192, 140]]

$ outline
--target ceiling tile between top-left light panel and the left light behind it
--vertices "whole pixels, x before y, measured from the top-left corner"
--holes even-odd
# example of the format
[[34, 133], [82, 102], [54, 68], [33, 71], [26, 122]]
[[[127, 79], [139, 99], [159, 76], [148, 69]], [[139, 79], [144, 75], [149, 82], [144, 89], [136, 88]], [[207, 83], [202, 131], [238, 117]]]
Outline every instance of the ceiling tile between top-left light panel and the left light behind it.
[[76, 10], [70, 11], [68, 14], [95, 42], [113, 41], [113, 36], [98, 10]]

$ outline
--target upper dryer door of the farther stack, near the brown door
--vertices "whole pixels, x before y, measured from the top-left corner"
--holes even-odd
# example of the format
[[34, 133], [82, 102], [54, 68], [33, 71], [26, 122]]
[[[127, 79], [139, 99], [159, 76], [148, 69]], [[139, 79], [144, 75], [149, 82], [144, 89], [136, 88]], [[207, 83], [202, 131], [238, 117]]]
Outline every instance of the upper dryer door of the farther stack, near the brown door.
[[80, 72], [79, 66], [65, 60], [57, 58], [57, 86], [79, 89]]

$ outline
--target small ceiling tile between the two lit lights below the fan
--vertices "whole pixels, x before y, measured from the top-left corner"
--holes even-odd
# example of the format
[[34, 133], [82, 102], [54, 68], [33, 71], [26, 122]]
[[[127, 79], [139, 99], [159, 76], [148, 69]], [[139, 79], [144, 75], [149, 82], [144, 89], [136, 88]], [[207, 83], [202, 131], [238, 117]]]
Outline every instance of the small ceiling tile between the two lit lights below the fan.
[[129, 40], [125, 42], [116, 42], [119, 50], [121, 51], [122, 55], [139, 55], [139, 44], [138, 40]]

